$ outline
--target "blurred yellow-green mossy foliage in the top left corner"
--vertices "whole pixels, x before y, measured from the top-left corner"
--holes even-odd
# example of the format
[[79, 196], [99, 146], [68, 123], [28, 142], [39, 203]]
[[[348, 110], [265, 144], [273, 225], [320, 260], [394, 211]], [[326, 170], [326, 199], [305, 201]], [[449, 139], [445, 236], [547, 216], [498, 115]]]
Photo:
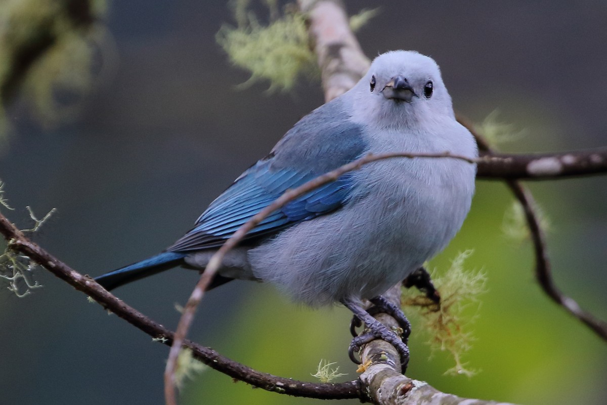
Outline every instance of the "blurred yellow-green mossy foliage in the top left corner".
[[0, 5], [0, 134], [18, 98], [46, 128], [69, 121], [107, 65], [106, 0], [3, 0]]

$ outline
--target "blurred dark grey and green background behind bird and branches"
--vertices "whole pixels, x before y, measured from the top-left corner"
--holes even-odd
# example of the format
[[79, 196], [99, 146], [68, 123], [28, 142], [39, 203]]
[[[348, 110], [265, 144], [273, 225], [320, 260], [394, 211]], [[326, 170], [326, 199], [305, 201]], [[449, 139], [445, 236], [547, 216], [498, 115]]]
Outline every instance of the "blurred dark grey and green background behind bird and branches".
[[[0, 2], [0, 12], [13, 3]], [[358, 34], [365, 53], [433, 56], [457, 111], [481, 122], [498, 109], [499, 120], [523, 132], [504, 151], [607, 145], [605, 2], [347, 2], [351, 13], [379, 6]], [[266, 13], [262, 4], [251, 7]], [[222, 1], [111, 2], [103, 21], [109, 36], [95, 56], [109, 73], [80, 114], [50, 124], [24, 98], [7, 109], [0, 179], [16, 208], [10, 219], [25, 227], [26, 205], [39, 216], [57, 208], [36, 242], [92, 276], [157, 253], [188, 230], [243, 169], [323, 102], [319, 83], [302, 81], [288, 94], [268, 94], [268, 84], [237, 89], [248, 74], [229, 66], [214, 40], [232, 21]], [[607, 319], [607, 178], [529, 186], [552, 222], [557, 284]], [[445, 269], [458, 251], [473, 248], [467, 267], [489, 277], [472, 326], [476, 341], [464, 357], [479, 372], [444, 376], [452, 359], [430, 359], [427, 336], [414, 324], [409, 375], [473, 398], [603, 405], [607, 344], [540, 291], [530, 245], [501, 231], [511, 201], [501, 183], [478, 182], [463, 230], [431, 264]], [[167, 348], [52, 274], [36, 277], [44, 288], [23, 299], [2, 285], [0, 402], [162, 404]], [[172, 270], [116, 293], [175, 327], [174, 304], [185, 303], [196, 279]], [[313, 379], [320, 359], [337, 361], [346, 381], [356, 378], [346, 355], [349, 321], [344, 308], [310, 311], [270, 285], [237, 281], [208, 294], [189, 336], [296, 379]], [[315, 402], [251, 389], [213, 370], [189, 381], [181, 396], [183, 404]]]

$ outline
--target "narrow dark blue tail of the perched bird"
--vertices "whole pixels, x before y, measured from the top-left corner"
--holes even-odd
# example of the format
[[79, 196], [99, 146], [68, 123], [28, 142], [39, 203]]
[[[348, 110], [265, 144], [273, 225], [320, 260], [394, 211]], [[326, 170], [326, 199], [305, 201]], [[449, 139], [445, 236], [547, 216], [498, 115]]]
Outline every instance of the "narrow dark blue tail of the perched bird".
[[110, 273], [95, 278], [95, 281], [109, 291], [131, 281], [142, 279], [143, 277], [148, 277], [180, 265], [183, 263], [183, 257], [185, 256], [185, 253], [163, 252], [141, 260], [141, 262], [110, 271]]

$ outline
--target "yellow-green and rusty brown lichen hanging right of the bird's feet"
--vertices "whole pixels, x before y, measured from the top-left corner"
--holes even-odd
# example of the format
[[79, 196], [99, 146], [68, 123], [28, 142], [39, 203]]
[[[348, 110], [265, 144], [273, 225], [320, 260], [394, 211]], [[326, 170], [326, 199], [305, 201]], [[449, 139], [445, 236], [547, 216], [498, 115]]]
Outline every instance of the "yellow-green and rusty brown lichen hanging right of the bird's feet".
[[[448, 352], [452, 355], [455, 366], [447, 370], [446, 374], [472, 376], [475, 373], [463, 362], [462, 356], [470, 350], [474, 340], [467, 326], [478, 311], [478, 296], [486, 292], [487, 277], [483, 271], [464, 270], [464, 261], [471, 254], [472, 250], [459, 253], [443, 276], [432, 277], [441, 295], [439, 304], [422, 293], [404, 293], [402, 298], [402, 305], [407, 307], [407, 315], [418, 318], [422, 329], [429, 333], [432, 352]], [[473, 304], [476, 304], [473, 315], [464, 314], [464, 310], [470, 311], [467, 308]]]

